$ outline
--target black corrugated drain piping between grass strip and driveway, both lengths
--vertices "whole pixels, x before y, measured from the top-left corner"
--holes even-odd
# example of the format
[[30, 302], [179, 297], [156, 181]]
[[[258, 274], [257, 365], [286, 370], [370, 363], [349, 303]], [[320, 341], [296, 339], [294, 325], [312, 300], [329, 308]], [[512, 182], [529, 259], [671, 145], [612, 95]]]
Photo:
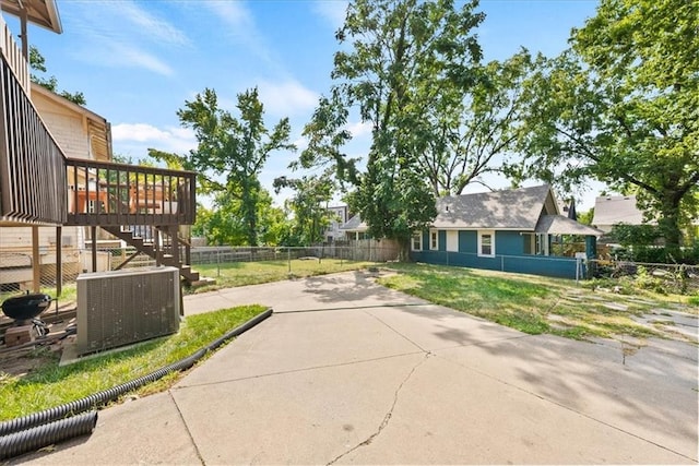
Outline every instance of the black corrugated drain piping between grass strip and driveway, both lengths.
[[[226, 333], [222, 337], [215, 339], [214, 342], [210, 343], [205, 347], [197, 350], [194, 354], [188, 356], [187, 358], [180, 359], [177, 362], [165, 366], [164, 368], [158, 369], [154, 372], [151, 372], [150, 374], [140, 377], [130, 382], [122, 383], [120, 385], [117, 385], [108, 390], [103, 390], [100, 392], [93, 393], [92, 395], [85, 396], [74, 402], [66, 403], [63, 405], [59, 405], [54, 408], [44, 409], [43, 411], [34, 413], [27, 416], [11, 419], [9, 421], [0, 422], [0, 435], [1, 435], [0, 437], [0, 459], [9, 458], [20, 454], [20, 453], [12, 453], [11, 455], [8, 455], [10, 452], [17, 452], [21, 450], [22, 453], [24, 453], [37, 447], [56, 443], [56, 441], [52, 441], [52, 442], [44, 443], [37, 446], [37, 442], [40, 443], [39, 442], [40, 439], [48, 438], [49, 435], [47, 435], [47, 433], [40, 429], [36, 429], [36, 433], [31, 433], [31, 432], [34, 432], [35, 431], [34, 428], [36, 428], [37, 426], [42, 426], [47, 422], [50, 422], [51, 426], [55, 423], [58, 425], [59, 422], [67, 421], [68, 419], [72, 419], [70, 418], [70, 416], [75, 416], [80, 413], [84, 413], [90, 409], [99, 408], [100, 406], [104, 406], [107, 403], [117, 399], [119, 396], [123, 395], [125, 393], [139, 389], [145, 385], [146, 383], [154, 382], [158, 379], [162, 379], [170, 372], [187, 370], [192, 366], [194, 366], [194, 363], [199, 359], [201, 359], [206, 353], [215, 350], [221, 345], [223, 345], [226, 340], [233, 337], [236, 337], [242, 334], [244, 332], [252, 328], [254, 325], [259, 324], [260, 322], [262, 322], [263, 320], [272, 315], [272, 312], [273, 310], [271, 308], [268, 309], [266, 311], [256, 315], [249, 321], [238, 325], [237, 327]], [[87, 418], [81, 417], [81, 419], [76, 419], [73, 422], [80, 426], [73, 427], [73, 423], [68, 423], [66, 427], [66, 430], [75, 431], [75, 433], [72, 433], [70, 437], [61, 438], [60, 439], [61, 441], [68, 440], [72, 437], [84, 435], [86, 433], [92, 432], [92, 429], [97, 422], [97, 411], [94, 411], [94, 422], [88, 430], [83, 430], [90, 423], [90, 420], [87, 420]], [[82, 426], [82, 425], [85, 425], [85, 426]], [[68, 427], [70, 427], [70, 429]], [[78, 427], [82, 429], [78, 429]], [[27, 433], [25, 434], [25, 432]], [[25, 444], [32, 445], [32, 446], [28, 446], [27, 450], [24, 450], [23, 445]]]

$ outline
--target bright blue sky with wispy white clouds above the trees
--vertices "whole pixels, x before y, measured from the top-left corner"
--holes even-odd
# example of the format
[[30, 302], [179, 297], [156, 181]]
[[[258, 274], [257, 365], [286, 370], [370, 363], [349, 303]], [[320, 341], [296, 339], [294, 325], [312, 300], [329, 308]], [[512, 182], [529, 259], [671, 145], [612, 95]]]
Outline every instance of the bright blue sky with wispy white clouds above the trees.
[[[303, 127], [332, 84], [334, 33], [346, 8], [341, 0], [56, 1], [63, 34], [31, 27], [29, 41], [59, 87], [83, 92], [86, 107], [111, 123], [115, 154], [134, 160], [147, 147], [180, 154], [196, 147], [176, 112], [205, 87], [235, 113], [236, 95], [258, 86], [269, 126], [289, 117], [292, 139], [304, 147]], [[557, 55], [567, 47], [570, 28], [593, 16], [596, 4], [482, 0], [486, 19], [476, 33], [485, 59], [508, 58], [522, 46]], [[16, 34], [16, 22], [5, 19]], [[362, 156], [368, 128], [358, 121], [350, 127], [355, 141], [348, 152]], [[270, 158], [261, 177], [270, 191], [294, 158]], [[584, 193], [579, 211], [593, 206], [600, 188]]]

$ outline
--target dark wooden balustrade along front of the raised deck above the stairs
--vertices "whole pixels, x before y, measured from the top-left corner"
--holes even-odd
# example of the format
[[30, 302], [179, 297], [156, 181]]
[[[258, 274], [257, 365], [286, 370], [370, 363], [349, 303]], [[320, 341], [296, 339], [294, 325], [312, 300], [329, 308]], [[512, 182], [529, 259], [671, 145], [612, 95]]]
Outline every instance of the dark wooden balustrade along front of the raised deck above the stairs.
[[192, 225], [192, 171], [68, 158], [66, 225]]

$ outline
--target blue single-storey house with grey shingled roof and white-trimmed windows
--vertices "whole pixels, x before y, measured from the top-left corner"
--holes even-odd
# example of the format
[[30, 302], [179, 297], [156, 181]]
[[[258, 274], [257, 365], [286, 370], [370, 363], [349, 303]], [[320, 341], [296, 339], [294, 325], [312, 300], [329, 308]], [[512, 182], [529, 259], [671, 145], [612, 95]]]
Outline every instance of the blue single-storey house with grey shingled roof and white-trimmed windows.
[[437, 212], [413, 236], [413, 261], [578, 278], [602, 235], [561, 215], [547, 184], [446, 196]]

